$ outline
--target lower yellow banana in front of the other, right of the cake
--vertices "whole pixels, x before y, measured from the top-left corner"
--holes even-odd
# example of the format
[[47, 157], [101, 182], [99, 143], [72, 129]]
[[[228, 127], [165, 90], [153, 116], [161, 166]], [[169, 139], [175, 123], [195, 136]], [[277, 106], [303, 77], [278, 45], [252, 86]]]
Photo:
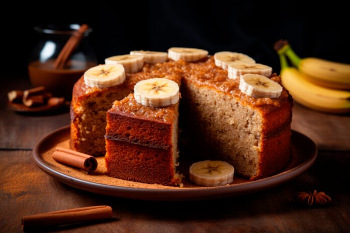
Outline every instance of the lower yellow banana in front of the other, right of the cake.
[[318, 86], [296, 68], [288, 67], [286, 57], [280, 54], [283, 86], [298, 103], [319, 111], [350, 112], [350, 92]]

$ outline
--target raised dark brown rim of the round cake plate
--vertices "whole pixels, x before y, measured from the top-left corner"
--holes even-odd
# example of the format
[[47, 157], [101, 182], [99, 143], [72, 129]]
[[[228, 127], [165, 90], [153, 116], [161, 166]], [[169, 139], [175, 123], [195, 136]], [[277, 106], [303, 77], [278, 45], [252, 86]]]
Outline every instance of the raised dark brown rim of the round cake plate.
[[[156, 188], [136, 188], [136, 187], [124, 187], [110, 184], [101, 184], [92, 181], [86, 181], [73, 176], [69, 176], [62, 172], [51, 168], [46, 165], [46, 162], [42, 159], [39, 153], [40, 146], [53, 137], [55, 134], [62, 133], [70, 128], [70, 125], [58, 128], [44, 137], [42, 137], [33, 148], [33, 159], [35, 164], [46, 174], [55, 178], [56, 180], [63, 182], [69, 186], [82, 189], [85, 191], [90, 191], [93, 193], [99, 193], [108, 196], [130, 198], [130, 199], [140, 199], [140, 200], [200, 200], [200, 199], [215, 199], [223, 198], [226, 196], [238, 196], [247, 193], [254, 193], [266, 189], [276, 187], [280, 184], [287, 183], [288, 181], [296, 178], [307, 169], [309, 169], [315, 162], [318, 154], [318, 148], [316, 144], [307, 136], [297, 131], [291, 130], [292, 135], [296, 134], [297, 137], [305, 138], [311, 143], [313, 147], [313, 155], [309, 159], [305, 160], [298, 166], [295, 166], [287, 171], [280, 172], [276, 175], [269, 176], [266, 178], [249, 181], [247, 183], [240, 183], [234, 185], [226, 186], [215, 186], [215, 187], [189, 187], [189, 188], [176, 188], [176, 189], [156, 189]], [[235, 190], [244, 186], [243, 191]], [[111, 193], [106, 193], [106, 191], [113, 191]], [[200, 192], [195, 192], [200, 191]], [[195, 194], [194, 194], [195, 192]], [[139, 193], [145, 193], [146, 195], [140, 196]], [[169, 195], [170, 193], [170, 195]], [[136, 194], [136, 195], [135, 195]], [[156, 194], [156, 195], [151, 195]]]

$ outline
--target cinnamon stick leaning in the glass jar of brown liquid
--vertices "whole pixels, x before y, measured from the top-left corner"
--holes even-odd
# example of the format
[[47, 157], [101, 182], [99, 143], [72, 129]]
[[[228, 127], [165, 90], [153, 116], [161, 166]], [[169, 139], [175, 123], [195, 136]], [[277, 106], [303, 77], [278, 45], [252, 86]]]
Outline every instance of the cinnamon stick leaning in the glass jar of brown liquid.
[[81, 39], [83, 38], [84, 33], [88, 31], [88, 29], [89, 29], [89, 26], [86, 24], [83, 24], [80, 26], [79, 30], [73, 33], [73, 35], [69, 38], [67, 43], [64, 45], [61, 52], [58, 54], [58, 57], [54, 63], [54, 67], [56, 69], [62, 69], [64, 67], [65, 63], [68, 61], [73, 51], [78, 46]]

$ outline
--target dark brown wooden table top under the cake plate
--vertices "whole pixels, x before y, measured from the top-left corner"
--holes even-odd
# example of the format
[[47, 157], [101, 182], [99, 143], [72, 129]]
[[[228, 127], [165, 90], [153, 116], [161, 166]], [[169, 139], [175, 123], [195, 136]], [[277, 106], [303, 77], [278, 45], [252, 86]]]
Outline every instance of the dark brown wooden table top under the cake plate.
[[[7, 92], [30, 86], [8, 79], [0, 94], [0, 231], [21, 232], [21, 217], [91, 205], [110, 205], [113, 221], [59, 228], [64, 232], [350, 232], [350, 117], [293, 109], [292, 128], [318, 145], [315, 164], [295, 180], [240, 197], [184, 202], [129, 200], [98, 195], [60, 183], [32, 160], [45, 134], [69, 124], [68, 112], [28, 116], [7, 106]], [[324, 191], [324, 207], [297, 205], [303, 190]]]

